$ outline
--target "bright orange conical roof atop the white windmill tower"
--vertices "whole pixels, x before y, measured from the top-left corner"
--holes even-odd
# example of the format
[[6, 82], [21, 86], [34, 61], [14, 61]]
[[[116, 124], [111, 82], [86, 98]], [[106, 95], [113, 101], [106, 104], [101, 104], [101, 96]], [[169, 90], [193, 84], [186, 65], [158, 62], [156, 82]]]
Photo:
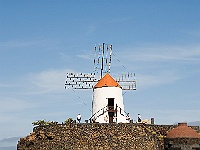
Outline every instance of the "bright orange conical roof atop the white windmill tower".
[[105, 86], [121, 88], [121, 86], [108, 73], [94, 86], [94, 88], [101, 88]]

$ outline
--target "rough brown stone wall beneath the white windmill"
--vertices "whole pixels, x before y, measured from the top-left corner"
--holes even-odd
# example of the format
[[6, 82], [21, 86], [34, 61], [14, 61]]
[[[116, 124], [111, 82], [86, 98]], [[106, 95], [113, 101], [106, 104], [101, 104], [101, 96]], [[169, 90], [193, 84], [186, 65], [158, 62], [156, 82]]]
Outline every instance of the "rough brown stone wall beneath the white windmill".
[[20, 139], [17, 149], [164, 150], [164, 137], [174, 127], [134, 123], [38, 126], [29, 136]]

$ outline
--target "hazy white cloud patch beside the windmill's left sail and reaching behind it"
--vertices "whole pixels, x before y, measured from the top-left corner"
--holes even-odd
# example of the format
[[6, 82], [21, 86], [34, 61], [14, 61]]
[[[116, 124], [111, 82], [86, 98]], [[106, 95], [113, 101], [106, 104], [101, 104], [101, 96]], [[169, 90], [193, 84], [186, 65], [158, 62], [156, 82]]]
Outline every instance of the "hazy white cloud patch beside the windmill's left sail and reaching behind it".
[[26, 90], [21, 95], [28, 94], [53, 94], [53, 93], [66, 93], [65, 81], [67, 73], [78, 74], [80, 72], [69, 69], [51, 69], [44, 70], [39, 73], [31, 73], [23, 77], [22, 88]]

